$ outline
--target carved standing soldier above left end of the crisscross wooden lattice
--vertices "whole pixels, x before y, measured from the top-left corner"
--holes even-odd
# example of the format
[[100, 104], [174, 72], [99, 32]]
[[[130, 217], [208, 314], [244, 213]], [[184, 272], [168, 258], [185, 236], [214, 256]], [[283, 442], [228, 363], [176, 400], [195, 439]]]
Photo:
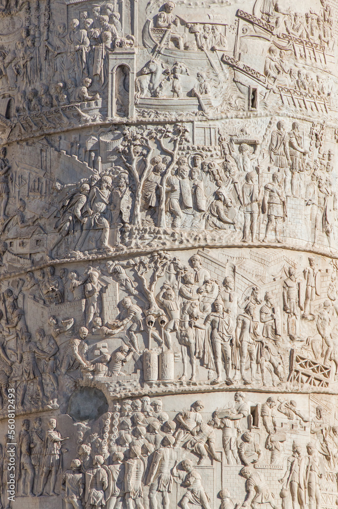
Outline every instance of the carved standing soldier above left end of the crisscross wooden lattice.
[[288, 274], [289, 277], [284, 279], [283, 283], [283, 305], [287, 314], [288, 335], [290, 338], [297, 338], [300, 328], [300, 310], [303, 308], [299, 301], [300, 285], [293, 267], [289, 267]]

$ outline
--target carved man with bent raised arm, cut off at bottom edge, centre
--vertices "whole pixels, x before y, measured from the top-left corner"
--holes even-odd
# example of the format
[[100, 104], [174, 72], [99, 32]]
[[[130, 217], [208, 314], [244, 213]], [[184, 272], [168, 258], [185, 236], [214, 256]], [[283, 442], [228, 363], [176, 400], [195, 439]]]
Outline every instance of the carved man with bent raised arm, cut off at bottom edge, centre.
[[191, 505], [198, 505], [203, 507], [203, 509], [210, 509], [210, 498], [202, 486], [201, 475], [193, 467], [193, 462], [191, 460], [183, 460], [181, 465], [184, 473], [177, 470], [176, 466], [173, 469], [174, 477], [179, 478], [181, 485], [187, 489], [186, 493], [179, 501], [180, 506], [182, 509], [191, 509]]

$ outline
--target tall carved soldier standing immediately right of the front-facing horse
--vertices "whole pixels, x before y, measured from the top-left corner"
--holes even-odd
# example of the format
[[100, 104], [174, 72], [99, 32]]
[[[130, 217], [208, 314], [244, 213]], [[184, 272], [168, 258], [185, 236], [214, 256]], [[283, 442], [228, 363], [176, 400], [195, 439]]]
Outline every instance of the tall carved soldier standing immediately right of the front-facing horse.
[[205, 325], [211, 327], [211, 345], [215, 358], [217, 379], [222, 381], [222, 358], [225, 359], [226, 384], [233, 383], [231, 379], [231, 342], [234, 341], [234, 324], [230, 316], [230, 309], [224, 309], [222, 299], [213, 303], [214, 312], [205, 319]]

